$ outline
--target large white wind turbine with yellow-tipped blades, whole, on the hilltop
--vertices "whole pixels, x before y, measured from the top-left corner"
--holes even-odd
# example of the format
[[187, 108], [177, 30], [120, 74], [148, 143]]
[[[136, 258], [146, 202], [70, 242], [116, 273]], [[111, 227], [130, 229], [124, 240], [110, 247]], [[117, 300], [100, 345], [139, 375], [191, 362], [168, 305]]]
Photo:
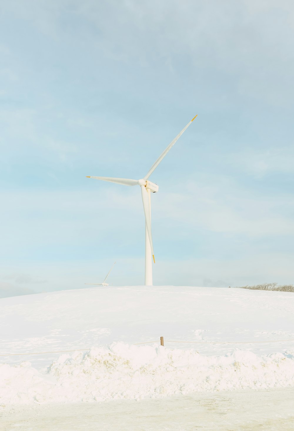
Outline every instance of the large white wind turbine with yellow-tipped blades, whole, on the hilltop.
[[93, 177], [96, 180], [109, 181], [111, 183], [123, 184], [124, 186], [136, 186], [141, 187], [143, 208], [145, 213], [145, 286], [152, 286], [152, 257], [155, 263], [153, 243], [152, 243], [152, 233], [151, 233], [151, 199], [150, 194], [156, 193], [158, 191], [158, 185], [148, 181], [148, 178], [152, 172], [157, 168], [161, 160], [167, 155], [171, 147], [176, 143], [181, 134], [184, 133], [186, 128], [195, 120], [197, 115], [183, 128], [182, 131], [174, 138], [173, 141], [166, 147], [164, 152], [158, 157], [156, 162], [151, 166], [144, 178], [140, 180], [130, 180], [127, 178], [111, 178], [111, 177]]

